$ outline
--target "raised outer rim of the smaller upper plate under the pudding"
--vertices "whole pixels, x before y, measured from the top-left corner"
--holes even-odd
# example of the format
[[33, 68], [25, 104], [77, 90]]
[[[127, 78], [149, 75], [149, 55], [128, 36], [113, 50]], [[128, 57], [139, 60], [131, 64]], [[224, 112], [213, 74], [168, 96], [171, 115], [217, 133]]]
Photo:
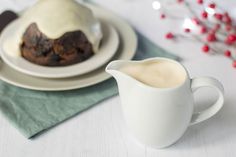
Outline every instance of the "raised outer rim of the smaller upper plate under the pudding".
[[[99, 17], [98, 17], [98, 19], [99, 19]], [[115, 45], [113, 45], [113, 49], [114, 49], [114, 52], [112, 52], [108, 57], [106, 57], [104, 60], [103, 60], [103, 62], [101, 62], [98, 66], [96, 66], [96, 67], [94, 67], [94, 68], [92, 68], [92, 69], [90, 69], [90, 70], [87, 70], [87, 71], [83, 71], [83, 72], [79, 72], [79, 71], [77, 71], [77, 72], [75, 72], [75, 70], [73, 70], [73, 69], [75, 69], [75, 68], [78, 68], [78, 67], [76, 67], [76, 66], [80, 66], [79, 64], [81, 64], [81, 63], [86, 63], [86, 60], [84, 61], [84, 62], [81, 62], [81, 63], [77, 63], [77, 64], [74, 64], [74, 65], [71, 65], [71, 67], [70, 66], [65, 66], [65, 67], [46, 67], [46, 66], [42, 66], [42, 67], [39, 67], [40, 65], [37, 65], [37, 64], [34, 64], [34, 63], [30, 63], [29, 61], [27, 61], [27, 60], [25, 60], [24, 62], [27, 62], [27, 64], [29, 64], [29, 66], [30, 65], [33, 65], [33, 66], [38, 66], [39, 68], [43, 68], [43, 69], [56, 69], [56, 70], [58, 70], [59, 71], [59, 69], [62, 69], [62, 68], [65, 68], [64, 70], [65, 71], [69, 71], [69, 69], [71, 69], [72, 68], [72, 70], [70, 70], [70, 72], [69, 73], [66, 73], [66, 74], [60, 74], [60, 73], [53, 73], [53, 74], [45, 74], [45, 73], [38, 73], [38, 72], [36, 72], [37, 70], [35, 70], [35, 71], [32, 71], [32, 70], [29, 70], [29, 69], [23, 69], [23, 68], [21, 68], [21, 67], [18, 67], [17, 65], [15, 65], [14, 63], [12, 63], [8, 58], [8, 56], [6, 56], [7, 54], [6, 54], [6, 52], [3, 50], [3, 42], [4, 42], [4, 40], [6, 39], [5, 38], [5, 35], [6, 35], [6, 31], [8, 31], [8, 29], [7, 28], [9, 28], [9, 26], [11, 26], [12, 27], [12, 25], [13, 24], [15, 24], [17, 22], [17, 20], [14, 20], [12, 23], [10, 23], [10, 25], [8, 25], [6, 28], [4, 28], [4, 30], [2, 31], [2, 33], [1, 33], [1, 35], [0, 35], [0, 56], [1, 56], [1, 58], [2, 58], [2, 60], [6, 63], [6, 64], [8, 64], [10, 67], [12, 67], [13, 69], [15, 69], [15, 70], [17, 70], [17, 71], [19, 71], [19, 72], [21, 72], [21, 73], [24, 73], [24, 74], [27, 74], [27, 75], [31, 75], [31, 76], [34, 76], [34, 77], [41, 77], [41, 78], [69, 78], [69, 77], [74, 77], [74, 76], [79, 76], [79, 75], [83, 75], [83, 74], [86, 74], [86, 73], [89, 73], [89, 72], [92, 72], [92, 71], [94, 71], [94, 70], [96, 70], [96, 69], [98, 69], [98, 68], [100, 68], [100, 67], [102, 67], [104, 64], [106, 64], [115, 54], [116, 54], [116, 51], [117, 51], [117, 49], [119, 48], [119, 44], [120, 44], [120, 38], [119, 38], [119, 35], [118, 35], [118, 32], [117, 32], [117, 30], [116, 30], [116, 28], [112, 25], [112, 24], [110, 24], [110, 23], [105, 23], [104, 21], [101, 21], [100, 20], [100, 23], [101, 23], [101, 25], [103, 25], [103, 24], [105, 24], [106, 25], [106, 27], [108, 27], [109, 28], [109, 32], [112, 34], [112, 36], [114, 36], [113, 37], [113, 41], [115, 41]], [[111, 34], [110, 35], [108, 35], [108, 38], [109, 38], [109, 36], [111, 36]], [[107, 46], [106, 46], [107, 47]], [[99, 53], [99, 52], [98, 52]], [[96, 54], [95, 54], [96, 55]], [[94, 56], [95, 56], [94, 55]], [[100, 55], [101, 56], [101, 55]], [[93, 56], [92, 56], [93, 57]], [[24, 58], [22, 58], [22, 59], [24, 59]], [[91, 58], [89, 58], [89, 59], [91, 59]], [[89, 61], [89, 59], [87, 60], [87, 61]], [[91, 60], [90, 60], [90, 62], [91, 62]], [[91, 65], [91, 64], [90, 64]], [[85, 66], [85, 65], [83, 65], [83, 66]], [[37, 68], [37, 67], [36, 67]]]

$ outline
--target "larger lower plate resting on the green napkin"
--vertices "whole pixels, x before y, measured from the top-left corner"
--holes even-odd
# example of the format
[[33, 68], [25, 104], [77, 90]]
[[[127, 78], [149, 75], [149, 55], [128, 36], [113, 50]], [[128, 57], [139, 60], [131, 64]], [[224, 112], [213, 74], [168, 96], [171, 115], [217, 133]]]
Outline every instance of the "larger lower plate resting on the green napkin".
[[[120, 45], [112, 60], [132, 59], [137, 47], [137, 37], [134, 30], [124, 20], [111, 12], [93, 5], [89, 5], [89, 7], [96, 12], [103, 21], [111, 23], [120, 35]], [[48, 79], [25, 75], [0, 61], [0, 79], [15, 86], [34, 90], [71, 90], [91, 86], [110, 78], [111, 76], [105, 72], [105, 66], [106, 65], [81, 76]]]

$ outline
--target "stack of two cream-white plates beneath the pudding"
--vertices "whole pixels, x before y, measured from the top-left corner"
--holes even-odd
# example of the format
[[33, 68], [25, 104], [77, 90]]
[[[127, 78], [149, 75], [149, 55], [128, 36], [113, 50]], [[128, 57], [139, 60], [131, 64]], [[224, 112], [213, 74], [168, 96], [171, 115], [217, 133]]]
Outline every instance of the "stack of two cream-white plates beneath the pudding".
[[0, 36], [0, 79], [15, 86], [44, 91], [78, 89], [102, 82], [110, 76], [105, 66], [111, 60], [130, 60], [135, 54], [137, 37], [133, 29], [111, 12], [88, 5], [100, 20], [103, 39], [99, 52], [88, 60], [65, 67], [44, 67], [23, 57], [12, 57], [2, 49], [3, 41], [17, 27], [9, 24]]

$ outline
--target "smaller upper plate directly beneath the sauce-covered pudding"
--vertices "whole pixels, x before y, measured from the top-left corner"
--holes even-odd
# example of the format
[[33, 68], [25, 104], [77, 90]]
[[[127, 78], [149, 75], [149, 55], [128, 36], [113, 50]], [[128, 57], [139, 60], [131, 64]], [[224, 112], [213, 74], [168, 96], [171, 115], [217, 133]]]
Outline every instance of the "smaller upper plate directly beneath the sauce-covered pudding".
[[[97, 14], [96, 11], [95, 14], [97, 15], [98, 19], [100, 19], [99, 14]], [[119, 45], [119, 36], [114, 27], [109, 24], [109, 21], [103, 21], [102, 19], [100, 21], [103, 39], [99, 51], [81, 63], [63, 67], [40, 66], [27, 61], [21, 56], [12, 57], [12, 55], [9, 55], [10, 53], [4, 51], [3, 49], [1, 49], [1, 57], [4, 62], [6, 62], [15, 70], [37, 77], [65, 78], [91, 72], [107, 63], [115, 55]], [[1, 48], [4, 40], [12, 35], [12, 32], [17, 28], [18, 23], [19, 20], [15, 20], [3, 30], [0, 36]]]

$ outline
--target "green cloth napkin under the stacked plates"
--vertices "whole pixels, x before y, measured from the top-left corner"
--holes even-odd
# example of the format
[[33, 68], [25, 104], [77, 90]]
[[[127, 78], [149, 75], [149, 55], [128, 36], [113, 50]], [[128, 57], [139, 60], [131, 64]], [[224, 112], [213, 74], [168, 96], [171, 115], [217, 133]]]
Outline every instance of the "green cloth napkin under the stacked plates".
[[[154, 56], [178, 59], [140, 34], [138, 39], [135, 59]], [[32, 138], [117, 93], [113, 79], [91, 87], [61, 92], [28, 90], [0, 81], [0, 112], [25, 137]]]

